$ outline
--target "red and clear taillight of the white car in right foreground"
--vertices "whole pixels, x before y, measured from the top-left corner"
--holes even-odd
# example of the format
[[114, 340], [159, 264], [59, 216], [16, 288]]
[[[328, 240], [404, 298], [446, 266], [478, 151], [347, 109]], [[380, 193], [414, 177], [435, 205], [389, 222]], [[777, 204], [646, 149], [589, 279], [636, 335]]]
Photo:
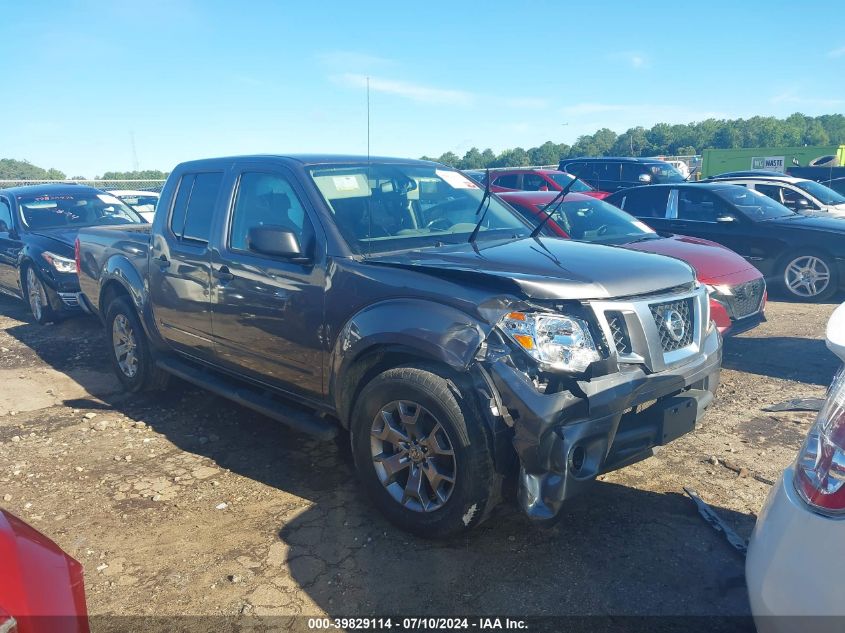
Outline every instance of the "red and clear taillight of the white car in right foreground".
[[845, 370], [830, 386], [798, 454], [795, 487], [816, 512], [845, 516]]

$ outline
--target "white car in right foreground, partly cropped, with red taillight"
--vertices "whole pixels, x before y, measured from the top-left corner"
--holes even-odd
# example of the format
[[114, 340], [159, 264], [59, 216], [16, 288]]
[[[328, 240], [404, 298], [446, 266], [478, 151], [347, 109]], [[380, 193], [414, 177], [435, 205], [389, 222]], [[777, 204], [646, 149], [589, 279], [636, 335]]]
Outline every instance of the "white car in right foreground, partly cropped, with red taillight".
[[[845, 304], [828, 323], [827, 345], [845, 361]], [[772, 488], [751, 536], [745, 576], [759, 633], [845, 630], [843, 544], [845, 369], [798, 459]]]

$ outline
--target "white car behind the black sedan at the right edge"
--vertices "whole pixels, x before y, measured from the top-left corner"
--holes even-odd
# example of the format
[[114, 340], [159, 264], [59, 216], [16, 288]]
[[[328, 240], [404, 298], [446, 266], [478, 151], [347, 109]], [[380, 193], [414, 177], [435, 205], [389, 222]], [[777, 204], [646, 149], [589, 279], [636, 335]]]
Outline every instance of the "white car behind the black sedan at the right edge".
[[754, 189], [798, 213], [826, 211], [845, 216], [845, 196], [815, 180], [792, 176], [744, 176], [712, 180]]

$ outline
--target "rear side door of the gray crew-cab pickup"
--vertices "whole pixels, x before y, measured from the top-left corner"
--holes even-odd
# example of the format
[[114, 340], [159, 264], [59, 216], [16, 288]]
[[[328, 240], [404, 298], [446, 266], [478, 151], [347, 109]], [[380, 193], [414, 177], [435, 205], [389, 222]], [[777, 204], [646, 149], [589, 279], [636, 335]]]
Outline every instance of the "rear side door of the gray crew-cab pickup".
[[212, 360], [211, 239], [222, 171], [185, 173], [150, 256], [150, 297], [161, 336], [175, 349]]

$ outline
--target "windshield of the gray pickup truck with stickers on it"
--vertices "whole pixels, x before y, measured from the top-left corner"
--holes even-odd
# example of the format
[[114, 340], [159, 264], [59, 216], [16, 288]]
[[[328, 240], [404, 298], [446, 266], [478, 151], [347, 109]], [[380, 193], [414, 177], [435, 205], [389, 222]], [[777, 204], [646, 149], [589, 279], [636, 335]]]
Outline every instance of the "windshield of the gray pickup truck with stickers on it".
[[[312, 167], [309, 173], [356, 253], [466, 242], [481, 218], [476, 211], [484, 190], [447, 167], [374, 163]], [[530, 233], [498, 198], [488, 204], [478, 240]]]

